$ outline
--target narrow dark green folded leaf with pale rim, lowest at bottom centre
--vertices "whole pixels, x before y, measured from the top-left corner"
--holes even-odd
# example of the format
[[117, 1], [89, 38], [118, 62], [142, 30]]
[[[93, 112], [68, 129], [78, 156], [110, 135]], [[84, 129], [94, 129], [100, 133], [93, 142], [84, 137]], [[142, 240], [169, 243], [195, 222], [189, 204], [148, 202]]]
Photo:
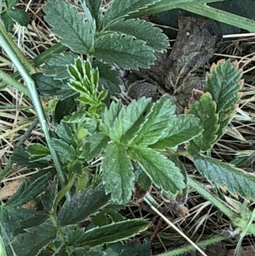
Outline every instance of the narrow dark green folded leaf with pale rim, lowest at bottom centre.
[[[112, 223], [103, 227], [90, 229], [84, 234], [80, 230], [73, 233], [70, 237], [69, 245], [72, 246], [97, 246], [106, 243], [113, 243], [128, 237], [135, 236], [136, 234], [146, 230], [149, 223], [146, 220], [124, 220], [122, 222]], [[77, 234], [79, 236], [77, 236]]]

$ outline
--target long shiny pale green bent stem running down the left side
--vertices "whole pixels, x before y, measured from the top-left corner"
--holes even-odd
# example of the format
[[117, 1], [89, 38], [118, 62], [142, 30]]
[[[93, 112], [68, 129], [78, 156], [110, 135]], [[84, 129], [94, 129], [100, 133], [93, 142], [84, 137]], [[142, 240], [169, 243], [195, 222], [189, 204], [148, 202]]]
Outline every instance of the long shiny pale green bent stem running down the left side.
[[[61, 181], [62, 187], [66, 186], [67, 184], [67, 178], [66, 174], [64, 173], [64, 170], [62, 169], [62, 163], [59, 158], [59, 155], [55, 151], [55, 149], [50, 145], [50, 129], [48, 127], [47, 119], [45, 117], [45, 112], [43, 110], [43, 107], [41, 105], [40, 98], [38, 96], [38, 93], [36, 91], [36, 86], [34, 84], [34, 80], [31, 78], [31, 75], [25, 68], [22, 61], [20, 61], [19, 57], [17, 56], [16, 52], [12, 49], [10, 43], [6, 38], [4, 37], [4, 34], [0, 31], [0, 43], [3, 47], [3, 50], [8, 54], [13, 64], [15, 64], [18, 72], [20, 72], [20, 75], [24, 79], [25, 83], [27, 84], [27, 89], [29, 90], [31, 100], [34, 105], [34, 109], [36, 110], [36, 114], [38, 116], [38, 119], [41, 124], [41, 129], [43, 130], [43, 133], [45, 135], [45, 140], [48, 144], [48, 148], [50, 149], [50, 153], [52, 154], [52, 158], [55, 164], [55, 168], [57, 170], [57, 174], [59, 176], [59, 180]], [[71, 195], [66, 193], [67, 199], [71, 199]]]

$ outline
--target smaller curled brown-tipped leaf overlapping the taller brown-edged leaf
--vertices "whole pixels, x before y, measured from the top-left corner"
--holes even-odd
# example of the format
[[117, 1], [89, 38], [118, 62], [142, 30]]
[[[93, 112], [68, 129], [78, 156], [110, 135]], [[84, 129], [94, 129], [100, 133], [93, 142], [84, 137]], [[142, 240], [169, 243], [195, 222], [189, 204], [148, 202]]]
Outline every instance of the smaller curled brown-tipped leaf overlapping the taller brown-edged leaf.
[[203, 128], [203, 133], [190, 142], [188, 151], [191, 155], [194, 156], [200, 153], [200, 151], [207, 151], [212, 148], [217, 138], [217, 130], [219, 129], [219, 115], [215, 112], [216, 104], [212, 101], [210, 93], [201, 95], [200, 100], [191, 105], [189, 114], [198, 117], [200, 119], [200, 126]]

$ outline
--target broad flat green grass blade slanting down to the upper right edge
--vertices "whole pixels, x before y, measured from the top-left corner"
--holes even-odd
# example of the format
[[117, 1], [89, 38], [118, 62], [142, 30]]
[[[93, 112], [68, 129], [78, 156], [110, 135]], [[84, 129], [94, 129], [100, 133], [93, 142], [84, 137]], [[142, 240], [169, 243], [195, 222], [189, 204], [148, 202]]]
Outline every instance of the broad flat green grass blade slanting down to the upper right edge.
[[216, 8], [212, 8], [203, 4], [192, 4], [189, 6], [180, 6], [183, 10], [191, 11], [198, 15], [202, 15], [208, 17], [210, 19], [217, 20], [219, 22], [223, 22], [229, 24], [231, 26], [240, 27], [241, 29], [245, 29], [250, 32], [255, 32], [255, 21], [251, 19], [247, 19], [233, 13], [229, 13], [228, 11], [222, 11]]

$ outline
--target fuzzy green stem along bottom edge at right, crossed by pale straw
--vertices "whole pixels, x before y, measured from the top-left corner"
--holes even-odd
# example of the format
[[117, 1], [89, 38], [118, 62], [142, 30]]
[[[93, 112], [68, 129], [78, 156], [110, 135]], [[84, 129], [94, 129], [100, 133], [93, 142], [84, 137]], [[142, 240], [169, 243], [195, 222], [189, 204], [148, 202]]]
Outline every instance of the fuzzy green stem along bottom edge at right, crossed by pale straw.
[[[214, 236], [214, 237], [212, 237], [210, 239], [207, 239], [205, 241], [201, 241], [199, 243], [196, 243], [196, 245], [199, 248], [203, 248], [207, 245], [212, 245], [214, 243], [219, 243], [220, 241], [226, 240], [228, 238], [229, 238], [228, 236]], [[157, 256], [175, 256], [175, 255], [180, 255], [182, 253], [191, 252], [191, 251], [194, 251], [194, 250], [195, 249], [192, 245], [188, 245], [188, 246], [184, 246], [182, 248], [178, 248], [176, 250], [173, 250], [171, 252], [165, 252], [165, 253], [158, 254]]]

